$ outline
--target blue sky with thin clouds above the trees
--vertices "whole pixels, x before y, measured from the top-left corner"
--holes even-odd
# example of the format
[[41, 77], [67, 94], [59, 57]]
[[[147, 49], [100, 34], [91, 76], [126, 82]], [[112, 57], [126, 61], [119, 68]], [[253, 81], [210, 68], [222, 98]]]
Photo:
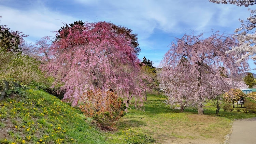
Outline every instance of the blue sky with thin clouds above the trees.
[[[28, 34], [28, 42], [54, 36], [52, 31], [63, 26], [61, 21], [111, 21], [138, 34], [139, 58], [145, 56], [155, 66], [174, 37], [192, 30], [205, 32], [204, 37], [212, 29], [231, 34], [241, 25], [238, 19], [249, 15], [245, 7], [208, 0], [0, 0], [1, 24]], [[252, 60], [249, 64], [255, 68]]]

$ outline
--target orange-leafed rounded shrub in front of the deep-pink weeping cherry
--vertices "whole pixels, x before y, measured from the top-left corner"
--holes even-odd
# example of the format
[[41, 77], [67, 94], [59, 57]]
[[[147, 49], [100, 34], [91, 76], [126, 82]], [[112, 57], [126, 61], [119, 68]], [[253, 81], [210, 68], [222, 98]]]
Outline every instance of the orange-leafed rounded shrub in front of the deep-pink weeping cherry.
[[80, 108], [84, 114], [93, 117], [100, 127], [112, 127], [126, 113], [122, 98], [114, 92], [100, 89], [85, 92], [80, 100]]

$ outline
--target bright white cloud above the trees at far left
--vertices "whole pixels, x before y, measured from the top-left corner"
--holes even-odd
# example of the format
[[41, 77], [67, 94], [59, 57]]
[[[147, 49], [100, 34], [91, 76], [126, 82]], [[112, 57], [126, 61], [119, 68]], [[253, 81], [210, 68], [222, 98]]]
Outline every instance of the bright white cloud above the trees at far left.
[[[77, 20], [72, 16], [63, 15], [59, 12], [49, 11], [44, 7], [29, 10], [17, 10], [0, 5], [1, 24], [8, 25], [11, 30], [22, 31], [29, 35], [28, 41], [38, 40], [44, 36], [55, 36], [53, 31], [60, 29], [63, 24]], [[60, 20], [57, 20], [60, 19]]]

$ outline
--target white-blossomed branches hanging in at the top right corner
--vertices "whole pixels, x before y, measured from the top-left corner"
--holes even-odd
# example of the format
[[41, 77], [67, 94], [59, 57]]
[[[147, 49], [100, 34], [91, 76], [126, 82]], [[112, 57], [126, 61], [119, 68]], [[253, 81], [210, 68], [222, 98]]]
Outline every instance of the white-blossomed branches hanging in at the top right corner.
[[[235, 4], [237, 6], [249, 7], [256, 4], [255, 0], [209, 0], [214, 3]], [[241, 55], [238, 62], [251, 56], [251, 59], [256, 60], [256, 10], [248, 9], [251, 15], [246, 19], [239, 19], [241, 27], [237, 28], [234, 32], [234, 37], [239, 41], [240, 45], [232, 47], [228, 53], [237, 53]]]

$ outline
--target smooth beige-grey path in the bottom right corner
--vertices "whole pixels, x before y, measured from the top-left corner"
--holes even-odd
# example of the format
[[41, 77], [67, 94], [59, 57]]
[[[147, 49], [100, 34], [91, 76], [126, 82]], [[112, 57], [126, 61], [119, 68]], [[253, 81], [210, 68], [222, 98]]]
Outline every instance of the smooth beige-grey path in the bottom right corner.
[[232, 126], [230, 144], [256, 143], [256, 118], [236, 120]]

